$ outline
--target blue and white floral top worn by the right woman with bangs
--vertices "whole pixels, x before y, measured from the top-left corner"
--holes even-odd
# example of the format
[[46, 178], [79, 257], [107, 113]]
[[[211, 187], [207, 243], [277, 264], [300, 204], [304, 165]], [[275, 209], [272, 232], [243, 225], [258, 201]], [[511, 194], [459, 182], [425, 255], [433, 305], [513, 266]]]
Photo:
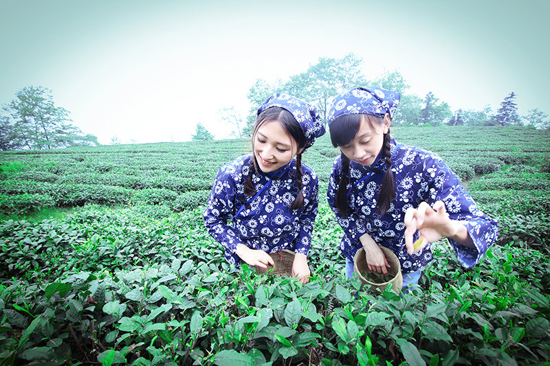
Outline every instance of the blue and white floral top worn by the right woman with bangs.
[[[348, 215], [343, 216], [336, 209], [336, 193], [342, 174], [340, 157], [333, 164], [327, 198], [342, 229], [344, 238], [340, 250], [353, 262], [353, 256], [362, 247], [360, 236], [369, 233], [373, 240], [388, 247], [397, 255], [403, 273], [415, 272], [432, 260], [430, 244], [423, 250], [408, 254], [405, 247], [404, 216], [408, 207], [417, 208], [422, 201], [433, 205], [440, 200], [453, 220], [465, 220], [475, 249], [467, 248], [449, 239], [460, 262], [474, 266], [495, 242], [496, 221], [480, 211], [450, 168], [443, 160], [427, 150], [400, 144], [391, 139], [391, 161], [395, 176], [395, 201], [386, 214], [376, 209], [378, 193], [387, 165], [381, 159], [382, 153], [371, 166], [355, 161], [350, 163], [350, 184], [348, 185]], [[419, 233], [415, 234], [415, 240]]]

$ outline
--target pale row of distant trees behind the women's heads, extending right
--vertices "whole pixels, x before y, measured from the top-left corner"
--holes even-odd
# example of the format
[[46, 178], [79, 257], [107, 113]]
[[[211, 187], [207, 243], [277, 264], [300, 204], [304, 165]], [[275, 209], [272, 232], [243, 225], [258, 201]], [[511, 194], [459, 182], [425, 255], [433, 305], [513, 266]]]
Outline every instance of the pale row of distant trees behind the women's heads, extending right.
[[[393, 124], [504, 126], [522, 123], [514, 102], [515, 93], [511, 93], [505, 98], [496, 114], [493, 113], [490, 106], [485, 107], [483, 111], [459, 108], [453, 112], [447, 102], [439, 101], [431, 91], [425, 98], [410, 93], [409, 85], [398, 71], [386, 71], [375, 80], [366, 80], [362, 73], [361, 63], [362, 59], [354, 54], [348, 54], [343, 58], [321, 57], [315, 65], [310, 65], [303, 73], [290, 76], [286, 82], [278, 80], [270, 84], [262, 79], [256, 80], [247, 95], [251, 108], [243, 133], [252, 133], [257, 109], [273, 93], [284, 92], [311, 102], [326, 121], [332, 99], [338, 93], [358, 86], [382, 87], [401, 93], [401, 100], [393, 117]], [[547, 115], [541, 113], [529, 111], [529, 115], [523, 117], [525, 124], [537, 126], [537, 128], [549, 128], [550, 123], [546, 120]], [[527, 121], [527, 118], [533, 119], [533, 122]]]

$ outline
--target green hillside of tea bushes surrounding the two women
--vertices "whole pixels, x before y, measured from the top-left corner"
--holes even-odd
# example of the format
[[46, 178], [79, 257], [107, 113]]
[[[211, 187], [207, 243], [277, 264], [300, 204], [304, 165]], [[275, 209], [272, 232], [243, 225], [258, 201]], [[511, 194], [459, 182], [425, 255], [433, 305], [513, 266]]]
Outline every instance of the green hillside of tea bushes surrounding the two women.
[[471, 269], [434, 243], [421, 288], [402, 296], [344, 278], [327, 135], [304, 156], [320, 178], [305, 286], [231, 272], [203, 227], [217, 170], [250, 141], [2, 152], [0, 363], [546, 365], [550, 133], [392, 133], [441, 155], [499, 225]]

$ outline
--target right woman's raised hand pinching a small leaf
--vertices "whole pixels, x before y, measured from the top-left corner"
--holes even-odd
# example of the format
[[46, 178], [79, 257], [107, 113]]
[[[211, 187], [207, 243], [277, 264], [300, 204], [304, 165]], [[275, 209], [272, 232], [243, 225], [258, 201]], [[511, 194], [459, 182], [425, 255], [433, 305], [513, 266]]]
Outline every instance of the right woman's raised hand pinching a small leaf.
[[[449, 218], [445, 203], [437, 201], [433, 207], [422, 202], [417, 209], [409, 207], [405, 213], [405, 246], [409, 254], [421, 251], [430, 242], [454, 235], [452, 220]], [[420, 231], [422, 243], [415, 249], [413, 236]]]

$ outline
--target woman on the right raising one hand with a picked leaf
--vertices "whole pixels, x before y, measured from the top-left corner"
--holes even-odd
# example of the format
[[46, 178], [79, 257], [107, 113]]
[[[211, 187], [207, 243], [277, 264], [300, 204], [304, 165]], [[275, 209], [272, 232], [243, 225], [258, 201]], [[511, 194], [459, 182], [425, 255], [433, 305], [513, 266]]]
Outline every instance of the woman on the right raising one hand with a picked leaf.
[[406, 290], [415, 288], [423, 266], [433, 259], [432, 242], [448, 238], [459, 261], [471, 267], [495, 242], [497, 228], [441, 158], [391, 137], [399, 97], [363, 87], [336, 96], [329, 130], [341, 155], [333, 164], [327, 198], [344, 229], [340, 249], [347, 277], [361, 247], [369, 270], [387, 274], [382, 245], [399, 258]]

